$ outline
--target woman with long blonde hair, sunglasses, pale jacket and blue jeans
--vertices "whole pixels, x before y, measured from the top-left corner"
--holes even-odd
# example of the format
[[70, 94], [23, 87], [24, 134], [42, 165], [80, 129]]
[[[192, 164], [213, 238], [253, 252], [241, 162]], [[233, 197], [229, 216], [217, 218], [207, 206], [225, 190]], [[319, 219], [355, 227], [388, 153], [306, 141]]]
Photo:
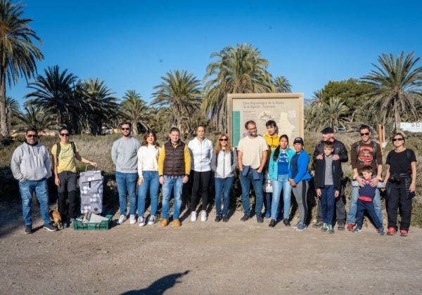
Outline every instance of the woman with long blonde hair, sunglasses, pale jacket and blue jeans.
[[[215, 222], [229, 221], [230, 191], [234, 181], [234, 169], [238, 164], [237, 152], [231, 147], [229, 136], [221, 133], [212, 153], [211, 169], [215, 172]], [[222, 192], [224, 190], [224, 206], [222, 214]]]

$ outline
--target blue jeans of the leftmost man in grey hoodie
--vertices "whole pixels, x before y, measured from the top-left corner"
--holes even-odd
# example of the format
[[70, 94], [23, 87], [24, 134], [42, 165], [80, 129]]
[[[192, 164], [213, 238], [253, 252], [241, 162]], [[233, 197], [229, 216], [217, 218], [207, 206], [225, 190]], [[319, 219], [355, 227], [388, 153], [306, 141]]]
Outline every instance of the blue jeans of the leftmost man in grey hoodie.
[[32, 194], [35, 192], [39, 202], [39, 211], [41, 212], [44, 224], [51, 223], [49, 216], [49, 188], [47, 178], [40, 181], [19, 181], [20, 197], [22, 198], [22, 214], [25, 225], [32, 225]]

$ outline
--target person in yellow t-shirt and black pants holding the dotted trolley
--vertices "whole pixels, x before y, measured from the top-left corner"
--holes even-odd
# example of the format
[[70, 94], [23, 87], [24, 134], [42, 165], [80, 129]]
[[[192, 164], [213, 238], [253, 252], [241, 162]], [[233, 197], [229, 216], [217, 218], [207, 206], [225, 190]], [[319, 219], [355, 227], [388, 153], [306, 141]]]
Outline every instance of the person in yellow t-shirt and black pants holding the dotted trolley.
[[[53, 145], [51, 154], [54, 162], [54, 183], [58, 188], [58, 211], [62, 216], [63, 228], [67, 228], [79, 215], [76, 199], [76, 159], [95, 167], [97, 167], [97, 164], [79, 155], [77, 145], [69, 140], [68, 128], [60, 128], [58, 134], [60, 142]], [[66, 192], [68, 193], [66, 194]], [[69, 206], [66, 202], [67, 199]]]

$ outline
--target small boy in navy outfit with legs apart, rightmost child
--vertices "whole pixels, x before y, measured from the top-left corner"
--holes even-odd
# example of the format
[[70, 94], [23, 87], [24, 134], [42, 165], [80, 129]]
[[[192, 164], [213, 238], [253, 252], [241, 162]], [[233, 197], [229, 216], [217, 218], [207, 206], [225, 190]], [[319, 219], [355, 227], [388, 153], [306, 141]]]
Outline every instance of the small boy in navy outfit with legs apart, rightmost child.
[[[379, 182], [376, 188], [373, 188], [370, 183], [372, 180], [373, 169], [371, 166], [364, 166], [362, 168], [362, 175], [364, 176], [364, 186], [359, 187], [359, 197], [357, 198], [357, 214], [356, 214], [356, 228], [353, 232], [362, 231], [362, 222], [364, 221], [364, 213], [368, 212], [369, 216], [372, 218], [373, 223], [375, 224], [376, 229], [380, 235], [384, 235], [383, 222], [379, 220], [376, 215], [374, 206], [373, 206], [373, 197], [375, 197], [376, 188], [382, 188], [384, 186], [383, 182]], [[355, 184], [352, 184], [355, 185]]]

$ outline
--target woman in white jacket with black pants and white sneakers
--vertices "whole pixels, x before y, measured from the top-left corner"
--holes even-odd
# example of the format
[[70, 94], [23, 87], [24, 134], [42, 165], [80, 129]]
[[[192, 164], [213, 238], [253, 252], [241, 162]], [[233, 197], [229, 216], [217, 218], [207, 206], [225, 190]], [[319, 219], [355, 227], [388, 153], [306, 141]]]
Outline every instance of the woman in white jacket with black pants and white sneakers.
[[198, 192], [202, 196], [202, 211], [200, 221], [207, 221], [208, 184], [211, 178], [211, 155], [214, 148], [211, 140], [205, 138], [205, 126], [196, 127], [196, 137], [188, 143], [192, 158], [192, 196], [191, 196], [191, 221], [196, 221], [196, 204]]

